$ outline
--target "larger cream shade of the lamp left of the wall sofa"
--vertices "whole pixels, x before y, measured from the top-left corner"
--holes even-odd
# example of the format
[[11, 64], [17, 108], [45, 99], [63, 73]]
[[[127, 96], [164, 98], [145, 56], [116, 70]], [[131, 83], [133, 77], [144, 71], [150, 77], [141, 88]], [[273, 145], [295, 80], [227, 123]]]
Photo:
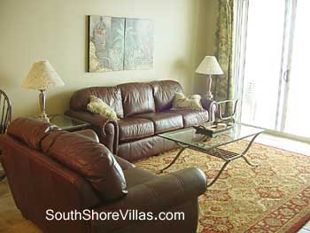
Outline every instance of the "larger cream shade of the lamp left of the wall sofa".
[[45, 90], [64, 86], [53, 66], [48, 60], [35, 62], [29, 71], [22, 87], [25, 89]]

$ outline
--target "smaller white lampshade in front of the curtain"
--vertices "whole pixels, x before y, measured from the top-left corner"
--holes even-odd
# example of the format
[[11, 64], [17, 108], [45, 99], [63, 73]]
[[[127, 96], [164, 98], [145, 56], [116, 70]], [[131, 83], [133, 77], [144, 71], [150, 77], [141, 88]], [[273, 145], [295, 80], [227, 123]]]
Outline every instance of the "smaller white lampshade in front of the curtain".
[[200, 62], [196, 73], [198, 74], [224, 74], [221, 66], [213, 56], [205, 56]]

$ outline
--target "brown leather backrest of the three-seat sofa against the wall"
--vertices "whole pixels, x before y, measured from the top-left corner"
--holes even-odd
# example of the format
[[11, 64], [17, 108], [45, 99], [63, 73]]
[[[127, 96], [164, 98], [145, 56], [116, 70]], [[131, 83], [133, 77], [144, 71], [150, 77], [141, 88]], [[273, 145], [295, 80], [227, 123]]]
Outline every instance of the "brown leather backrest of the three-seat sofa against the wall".
[[183, 93], [183, 89], [179, 82], [173, 80], [129, 82], [116, 87], [91, 87], [75, 91], [70, 107], [76, 111], [87, 111], [89, 96], [94, 95], [110, 105], [119, 118], [124, 118], [140, 113], [169, 110], [175, 92]]

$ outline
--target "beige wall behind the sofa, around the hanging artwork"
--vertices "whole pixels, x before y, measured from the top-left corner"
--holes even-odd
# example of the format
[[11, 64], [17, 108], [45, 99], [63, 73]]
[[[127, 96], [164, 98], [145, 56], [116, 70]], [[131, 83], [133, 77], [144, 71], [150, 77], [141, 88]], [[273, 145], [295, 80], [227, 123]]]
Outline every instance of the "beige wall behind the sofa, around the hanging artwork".
[[[213, 1], [0, 0], [0, 89], [12, 99], [13, 117], [39, 113], [38, 92], [20, 86], [41, 59], [49, 59], [66, 83], [48, 91], [48, 113], [63, 113], [74, 90], [89, 86], [174, 79], [186, 92], [195, 92], [195, 68], [205, 52], [213, 52], [213, 45], [207, 45], [213, 40], [208, 32]], [[154, 68], [85, 72], [89, 14], [153, 19]]]

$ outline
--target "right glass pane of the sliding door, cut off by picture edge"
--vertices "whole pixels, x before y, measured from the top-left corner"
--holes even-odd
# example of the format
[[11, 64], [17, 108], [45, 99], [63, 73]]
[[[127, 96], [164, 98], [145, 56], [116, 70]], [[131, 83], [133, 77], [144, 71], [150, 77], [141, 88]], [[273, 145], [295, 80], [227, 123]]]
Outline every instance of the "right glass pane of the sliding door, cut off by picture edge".
[[283, 131], [310, 137], [310, 1], [298, 0]]

